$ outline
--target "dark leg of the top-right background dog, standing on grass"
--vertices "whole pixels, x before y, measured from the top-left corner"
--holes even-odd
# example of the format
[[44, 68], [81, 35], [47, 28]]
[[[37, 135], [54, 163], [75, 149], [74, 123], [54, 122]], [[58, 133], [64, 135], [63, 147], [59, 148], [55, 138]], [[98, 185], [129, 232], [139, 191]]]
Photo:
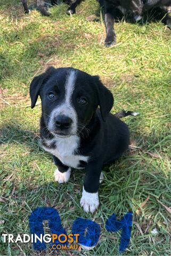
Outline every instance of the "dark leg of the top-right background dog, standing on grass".
[[114, 30], [114, 18], [113, 18], [113, 13], [112, 9], [113, 7], [105, 1], [105, 29], [107, 36], [105, 38], [105, 46], [110, 47], [111, 45], [116, 43], [116, 34]]

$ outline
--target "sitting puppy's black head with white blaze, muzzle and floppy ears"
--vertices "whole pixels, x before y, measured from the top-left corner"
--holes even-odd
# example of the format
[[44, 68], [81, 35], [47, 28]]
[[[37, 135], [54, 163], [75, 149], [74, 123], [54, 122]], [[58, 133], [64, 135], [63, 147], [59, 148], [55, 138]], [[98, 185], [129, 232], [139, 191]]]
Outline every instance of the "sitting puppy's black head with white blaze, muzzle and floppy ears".
[[48, 68], [30, 84], [31, 108], [38, 95], [47, 129], [58, 137], [79, 134], [100, 106], [103, 121], [113, 105], [112, 93], [98, 76], [74, 68]]

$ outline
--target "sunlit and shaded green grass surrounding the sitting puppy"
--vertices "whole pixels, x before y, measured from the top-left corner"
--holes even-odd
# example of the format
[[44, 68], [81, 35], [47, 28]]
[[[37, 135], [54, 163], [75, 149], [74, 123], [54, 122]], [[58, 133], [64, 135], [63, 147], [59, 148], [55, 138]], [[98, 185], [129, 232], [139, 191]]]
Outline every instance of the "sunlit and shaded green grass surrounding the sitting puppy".
[[[94, 250], [60, 255], [118, 255], [120, 234], [109, 234], [105, 221], [112, 213], [121, 218], [133, 211], [131, 243], [123, 254], [170, 255], [171, 215], [163, 206], [171, 209], [170, 30], [160, 22], [119, 22], [117, 45], [107, 49], [99, 5], [93, 0], [80, 4], [72, 17], [65, 13], [66, 4], [51, 8], [48, 18], [34, 9], [24, 15], [19, 0], [0, 0], [0, 6], [1, 232], [29, 234], [31, 211], [51, 206], [58, 209], [68, 233], [77, 217], [101, 226]], [[99, 21], [87, 21], [96, 13]], [[125, 119], [132, 147], [104, 168], [101, 205], [94, 214], [84, 213], [79, 205], [84, 171], [74, 170], [67, 184], [58, 185], [52, 158], [39, 146], [40, 105], [30, 109], [28, 91], [32, 78], [48, 65], [100, 75], [115, 97], [112, 113], [140, 112]], [[157, 235], [151, 234], [154, 228]], [[31, 244], [21, 243], [1, 243], [0, 254], [38, 255]]]

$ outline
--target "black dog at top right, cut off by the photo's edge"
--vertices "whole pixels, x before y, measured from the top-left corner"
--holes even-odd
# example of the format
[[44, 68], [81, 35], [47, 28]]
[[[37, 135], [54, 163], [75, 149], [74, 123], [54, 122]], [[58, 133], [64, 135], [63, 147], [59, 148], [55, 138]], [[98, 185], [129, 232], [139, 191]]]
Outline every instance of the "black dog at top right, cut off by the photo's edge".
[[168, 15], [170, 5], [170, 0], [104, 0], [105, 27], [107, 32], [105, 45], [110, 47], [116, 43], [116, 34], [113, 26], [118, 11], [132, 16], [135, 21], [139, 21], [145, 12], [158, 8], [162, 15], [160, 17], [163, 18], [162, 21], [165, 25], [171, 26], [171, 17]]

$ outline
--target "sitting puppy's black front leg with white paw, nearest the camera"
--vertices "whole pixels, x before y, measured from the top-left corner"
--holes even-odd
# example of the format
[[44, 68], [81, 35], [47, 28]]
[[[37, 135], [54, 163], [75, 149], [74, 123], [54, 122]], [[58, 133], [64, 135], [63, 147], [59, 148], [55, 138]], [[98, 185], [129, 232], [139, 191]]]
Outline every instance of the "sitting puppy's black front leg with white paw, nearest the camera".
[[80, 204], [85, 212], [94, 212], [99, 207], [99, 182], [102, 165], [88, 164]]

